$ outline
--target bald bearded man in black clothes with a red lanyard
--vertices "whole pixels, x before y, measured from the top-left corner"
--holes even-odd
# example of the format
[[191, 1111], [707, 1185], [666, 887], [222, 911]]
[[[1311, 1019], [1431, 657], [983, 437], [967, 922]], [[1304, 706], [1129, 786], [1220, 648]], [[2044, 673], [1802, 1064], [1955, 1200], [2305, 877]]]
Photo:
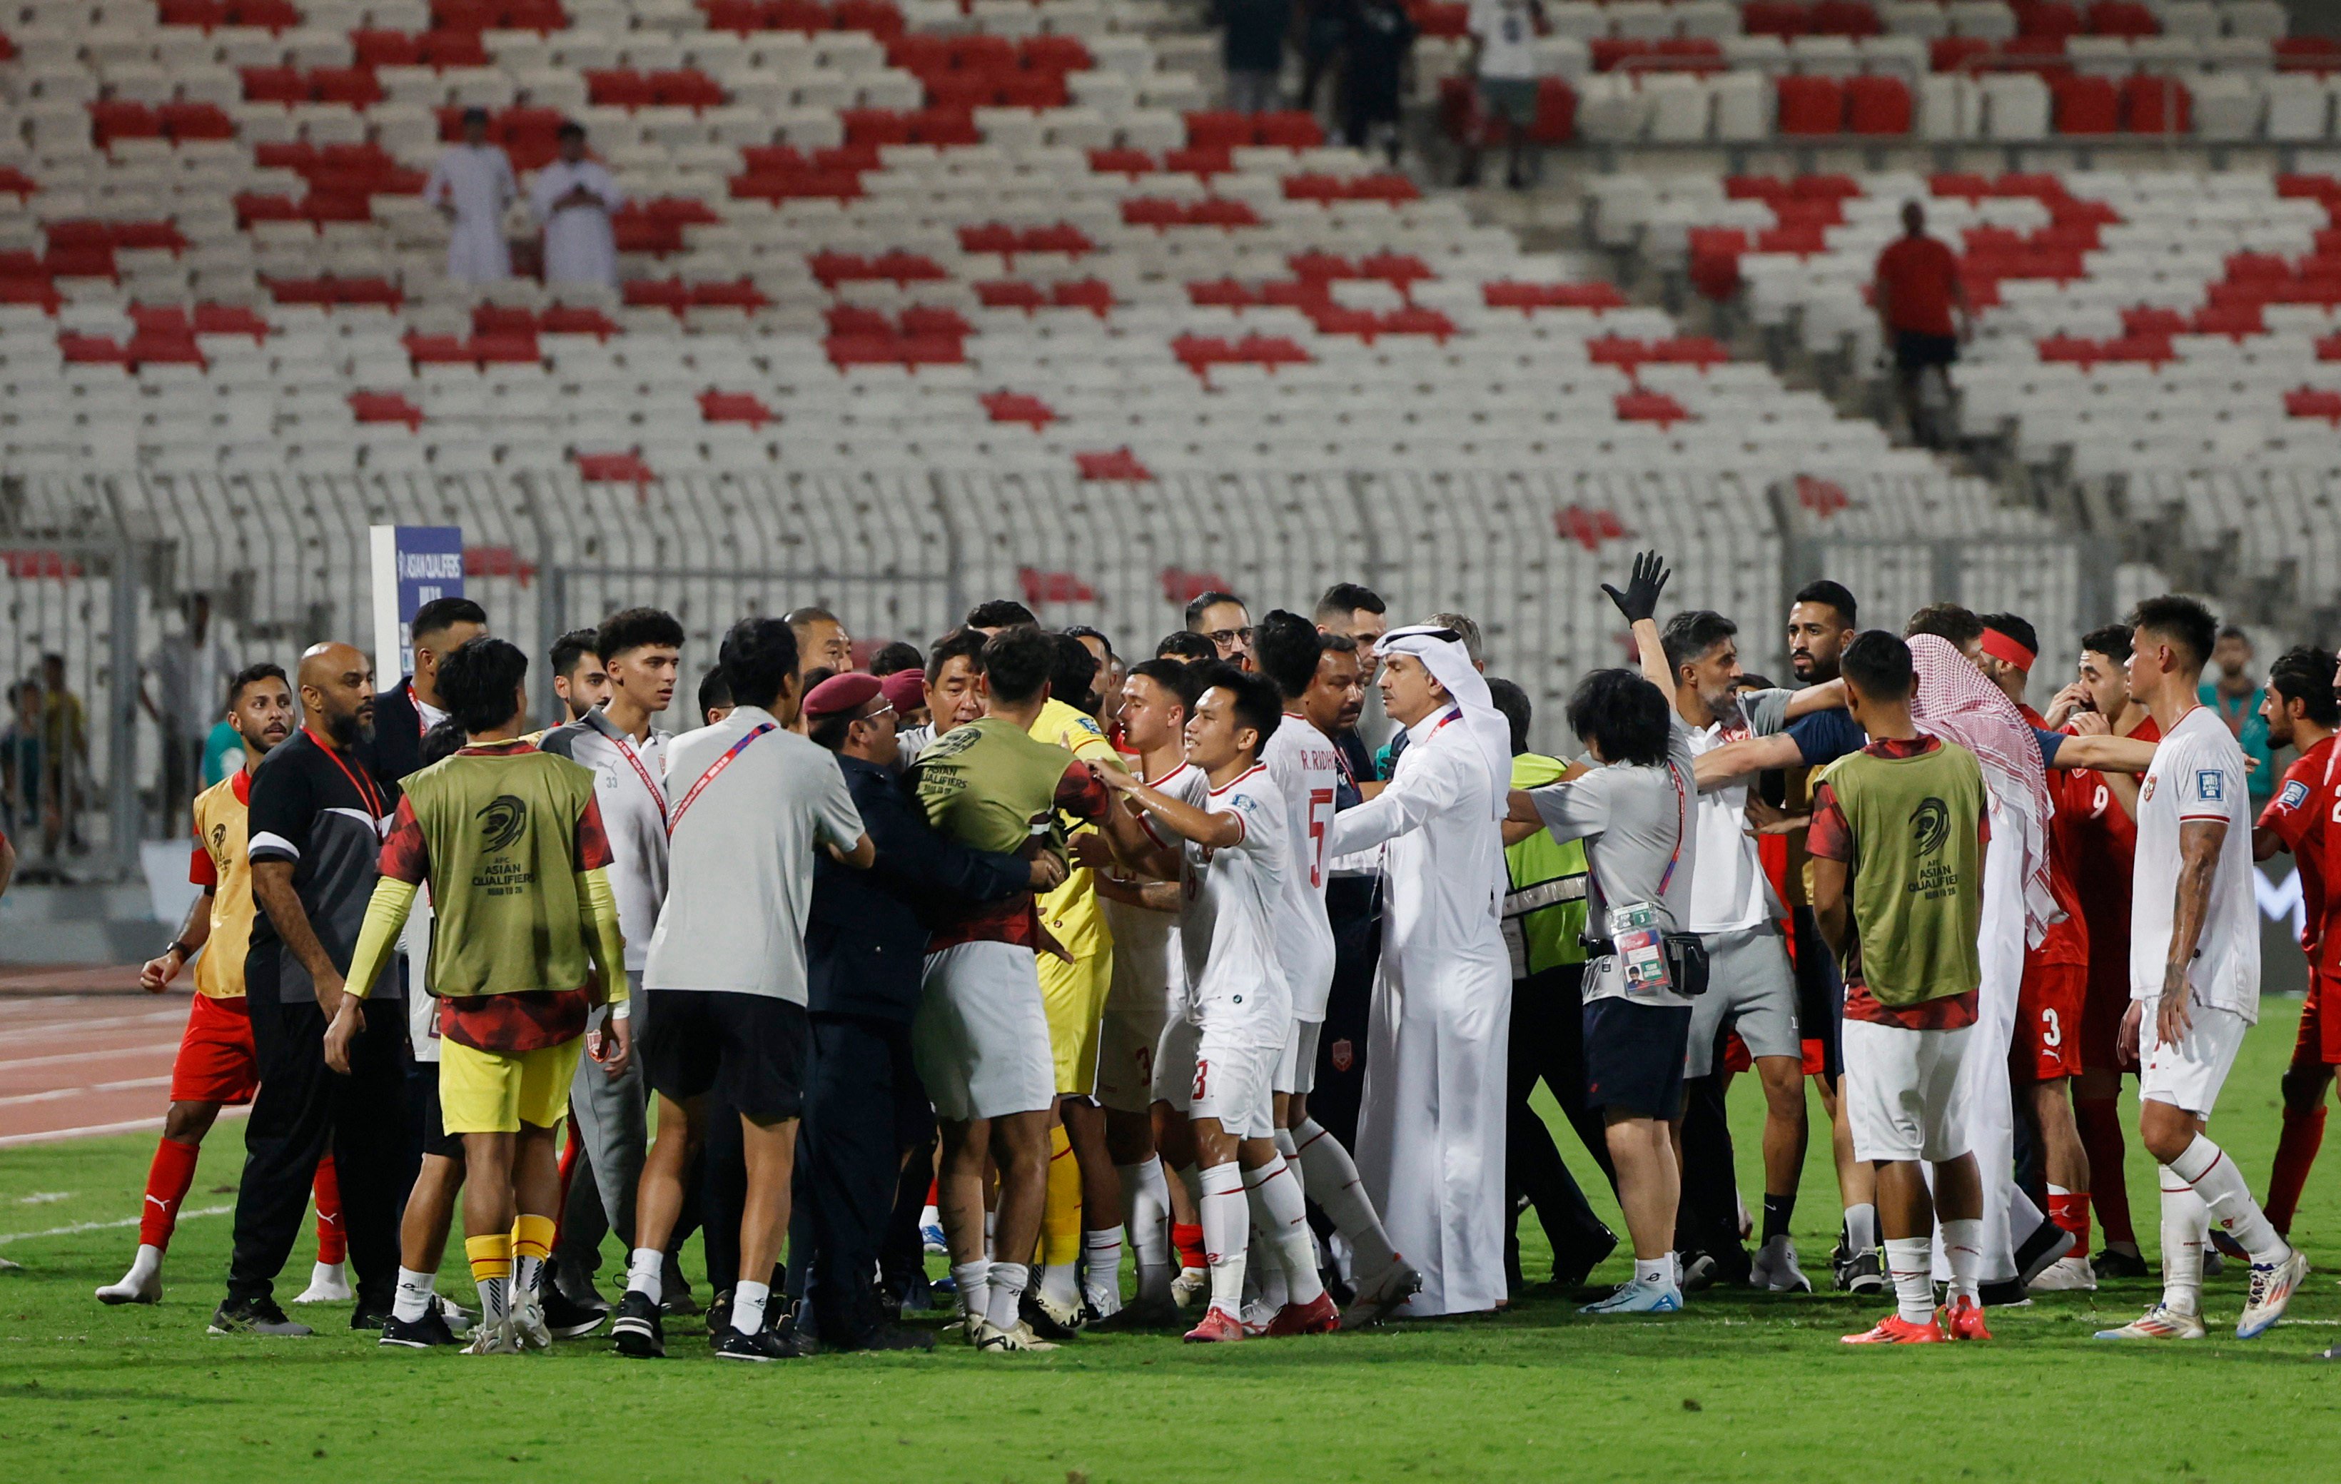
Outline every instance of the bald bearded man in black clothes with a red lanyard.
[[379, 1330], [398, 1285], [398, 1194], [405, 1142], [405, 1006], [384, 974], [361, 1009], [349, 1072], [325, 1067], [325, 1025], [342, 1009], [375, 894], [375, 861], [398, 784], [365, 761], [375, 667], [349, 644], [300, 660], [302, 728], [253, 772], [253, 941], [243, 960], [260, 1093], [243, 1126], [236, 1245], [213, 1334], [309, 1334], [274, 1285], [309, 1208], [318, 1156], [332, 1149], [358, 1306], [351, 1330]]

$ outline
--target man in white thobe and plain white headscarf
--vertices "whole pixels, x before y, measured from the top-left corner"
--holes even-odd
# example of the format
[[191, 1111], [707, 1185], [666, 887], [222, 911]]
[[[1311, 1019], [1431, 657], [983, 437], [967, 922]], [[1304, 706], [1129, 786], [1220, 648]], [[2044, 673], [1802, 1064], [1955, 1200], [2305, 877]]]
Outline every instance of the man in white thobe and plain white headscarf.
[[1512, 967], [1503, 833], [1512, 733], [1451, 630], [1393, 630], [1381, 700], [1407, 728], [1391, 784], [1334, 819], [1332, 854], [1381, 847], [1358, 1173], [1423, 1276], [1400, 1313], [1505, 1301], [1503, 1135]]

